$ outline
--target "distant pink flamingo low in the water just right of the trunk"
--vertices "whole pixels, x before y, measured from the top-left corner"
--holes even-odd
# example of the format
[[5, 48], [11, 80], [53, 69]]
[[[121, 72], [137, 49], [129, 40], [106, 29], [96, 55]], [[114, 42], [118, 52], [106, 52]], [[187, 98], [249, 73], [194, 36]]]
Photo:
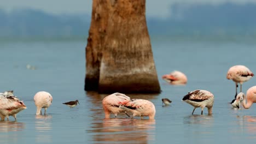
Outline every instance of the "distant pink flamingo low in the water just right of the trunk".
[[170, 74], [162, 76], [162, 79], [170, 83], [171, 85], [185, 85], [188, 81], [187, 76], [181, 71], [172, 71]]

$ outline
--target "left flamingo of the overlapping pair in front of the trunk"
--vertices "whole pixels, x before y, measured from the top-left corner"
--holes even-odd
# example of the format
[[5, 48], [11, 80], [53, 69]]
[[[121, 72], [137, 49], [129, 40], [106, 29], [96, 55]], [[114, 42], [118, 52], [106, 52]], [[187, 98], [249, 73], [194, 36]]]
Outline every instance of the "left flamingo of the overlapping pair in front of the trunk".
[[123, 93], [113, 93], [105, 97], [102, 100], [105, 118], [110, 118], [111, 112], [114, 113], [115, 117], [117, 117], [120, 112], [124, 112], [128, 117], [130, 117], [124, 109], [119, 107], [121, 104], [128, 103], [129, 101], [131, 101], [130, 97]]

